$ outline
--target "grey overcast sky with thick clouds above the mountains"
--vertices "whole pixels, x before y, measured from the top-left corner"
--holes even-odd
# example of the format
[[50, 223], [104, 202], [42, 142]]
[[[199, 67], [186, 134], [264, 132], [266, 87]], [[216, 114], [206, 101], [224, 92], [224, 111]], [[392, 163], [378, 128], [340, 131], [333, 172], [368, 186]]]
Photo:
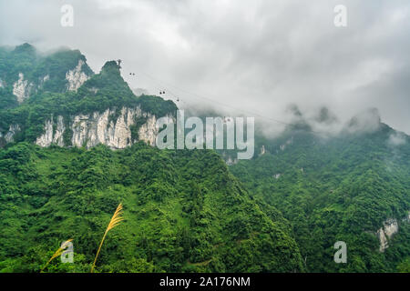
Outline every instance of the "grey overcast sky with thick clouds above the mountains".
[[[64, 4], [73, 27], [60, 25]], [[346, 27], [333, 25], [335, 5]], [[409, 36], [408, 0], [0, 0], [0, 45], [77, 48], [95, 72], [121, 58], [131, 87], [180, 106], [282, 121], [290, 104], [306, 115], [325, 105], [342, 121], [377, 107], [407, 134]]]

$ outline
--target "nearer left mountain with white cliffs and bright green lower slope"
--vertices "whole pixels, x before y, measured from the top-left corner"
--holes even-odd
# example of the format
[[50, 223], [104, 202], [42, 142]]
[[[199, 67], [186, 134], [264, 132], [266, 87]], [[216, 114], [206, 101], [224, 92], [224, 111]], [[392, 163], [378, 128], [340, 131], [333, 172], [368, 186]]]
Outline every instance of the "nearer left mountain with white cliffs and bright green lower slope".
[[94, 74], [78, 51], [0, 52], [0, 272], [39, 272], [67, 239], [74, 264], [46, 272], [88, 272], [120, 202], [97, 272], [305, 270], [290, 223], [217, 153], [154, 147], [177, 107], [134, 95], [119, 62]]

